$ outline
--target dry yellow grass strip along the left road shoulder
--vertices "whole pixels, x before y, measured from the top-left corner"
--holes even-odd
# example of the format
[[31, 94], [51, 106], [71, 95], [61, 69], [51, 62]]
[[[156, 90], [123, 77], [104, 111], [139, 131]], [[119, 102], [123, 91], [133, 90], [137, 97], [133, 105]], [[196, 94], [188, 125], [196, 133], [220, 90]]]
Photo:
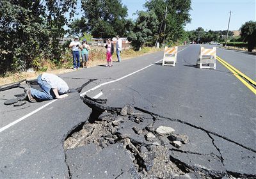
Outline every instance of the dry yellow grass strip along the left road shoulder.
[[[162, 51], [163, 49], [156, 49], [156, 48], [145, 48], [144, 50], [140, 52], [134, 52], [131, 49], [130, 50], [125, 50], [121, 54], [122, 60], [127, 60], [134, 58], [136, 56], [142, 56], [145, 54], [149, 54], [152, 52], [157, 52], [157, 51]], [[71, 57], [70, 57], [71, 58]], [[113, 61], [116, 61], [116, 53], [113, 54]], [[104, 48], [97, 48], [93, 49], [91, 54], [90, 54], [90, 59], [88, 63], [88, 68], [97, 66], [97, 65], [105, 65], [106, 64], [106, 49]], [[68, 72], [74, 71], [72, 66], [68, 66], [69, 68], [61, 68], [57, 70], [47, 70], [48, 73], [51, 74], [65, 74]], [[51, 68], [48, 68], [51, 69]], [[15, 73], [15, 74], [6, 74], [5, 77], [0, 77], [0, 85], [4, 84], [10, 84], [12, 82], [17, 82], [21, 81], [24, 79], [36, 79], [36, 77], [42, 74], [42, 72], [20, 72], [20, 73]]]

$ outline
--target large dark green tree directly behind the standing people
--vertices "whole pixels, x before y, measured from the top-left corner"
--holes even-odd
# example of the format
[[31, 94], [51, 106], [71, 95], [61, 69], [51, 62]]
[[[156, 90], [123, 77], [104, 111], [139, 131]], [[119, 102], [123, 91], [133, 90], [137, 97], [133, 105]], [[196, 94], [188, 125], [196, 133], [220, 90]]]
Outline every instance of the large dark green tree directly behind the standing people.
[[93, 37], [124, 36], [127, 24], [127, 7], [120, 0], [82, 0], [84, 19], [87, 19], [87, 31]]

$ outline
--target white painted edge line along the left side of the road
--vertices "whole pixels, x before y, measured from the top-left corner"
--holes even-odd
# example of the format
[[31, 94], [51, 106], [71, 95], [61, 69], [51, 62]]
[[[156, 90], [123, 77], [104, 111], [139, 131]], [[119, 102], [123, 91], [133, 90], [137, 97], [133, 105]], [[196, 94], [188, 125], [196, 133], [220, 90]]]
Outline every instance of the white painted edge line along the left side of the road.
[[[189, 45], [188, 47], [190, 47], [190, 46], [191, 46], [191, 45]], [[181, 51], [187, 49], [188, 47], [182, 49]], [[181, 52], [181, 51], [179, 51], [179, 52]], [[178, 52], [178, 53], [179, 53], [179, 52]], [[159, 61], [162, 61], [162, 60], [163, 60], [163, 59], [160, 59]], [[141, 70], [145, 70], [146, 68], [148, 68], [148, 67], [150, 67], [150, 66], [152, 66], [152, 65], [154, 65], [154, 64], [156, 64], [156, 63], [158, 63], [159, 61], [156, 61], [155, 63], [152, 63], [151, 65], [145, 66], [144, 68], [141, 68], [140, 70], [137, 70], [136, 72], [132, 72], [131, 74], [125, 75], [124, 77], [120, 77], [119, 79], [116, 79], [116, 80], [113, 80], [113, 81], [108, 81], [108, 82], [103, 82], [102, 84], [99, 84], [99, 85], [95, 86], [94, 88], [89, 89], [88, 91], [85, 91], [84, 93], [82, 93], [82, 94], [80, 95], [80, 97], [83, 96], [83, 95], [85, 95], [85, 94], [88, 93], [89, 91], [93, 91], [93, 90], [95, 90], [95, 89], [97, 89], [97, 88], [100, 88], [101, 86], [104, 86], [104, 85], [109, 84], [109, 83], [112, 83], [112, 82], [120, 81], [120, 80], [122, 80], [122, 79], [124, 79], [124, 78], [126, 78], [126, 77], [129, 77], [129, 76], [131, 76], [131, 75], [133, 75], [133, 74], [136, 74], [136, 73], [140, 72]], [[100, 92], [100, 93], [101, 93], [101, 92]], [[102, 93], [102, 94], [103, 94], [103, 93]], [[98, 95], [99, 95], [99, 94], [98, 94]], [[97, 96], [97, 95], [96, 95], [96, 96]], [[95, 96], [95, 97], [96, 97], [96, 96]], [[100, 95], [100, 96], [101, 96], [101, 95]], [[95, 98], [95, 97], [93, 97], [93, 98]], [[99, 98], [99, 97], [98, 97], [98, 98]], [[19, 123], [20, 121], [25, 120], [25, 119], [28, 118], [29, 116], [31, 116], [31, 115], [37, 113], [37, 112], [40, 111], [41, 109], [44, 109], [45, 107], [47, 107], [47, 105], [50, 105], [50, 104], [52, 104], [52, 103], [55, 102], [55, 101], [56, 101], [56, 99], [55, 99], [55, 100], [52, 100], [51, 102], [49, 102], [49, 103], [47, 103], [47, 104], [45, 104], [45, 105], [43, 105], [43, 106], [41, 106], [41, 107], [39, 107], [38, 109], [36, 109], [35, 111], [32, 111], [31, 113], [26, 114], [25, 116], [19, 118], [18, 120], [15, 120], [15, 121], [13, 121], [12, 123], [10, 123], [10, 124], [8, 124], [8, 125], [6, 125], [6, 126], [0, 128], [0, 132], [3, 132], [3, 131], [6, 130], [7, 128], [12, 127], [13, 125], [15, 125], [16, 123]]]

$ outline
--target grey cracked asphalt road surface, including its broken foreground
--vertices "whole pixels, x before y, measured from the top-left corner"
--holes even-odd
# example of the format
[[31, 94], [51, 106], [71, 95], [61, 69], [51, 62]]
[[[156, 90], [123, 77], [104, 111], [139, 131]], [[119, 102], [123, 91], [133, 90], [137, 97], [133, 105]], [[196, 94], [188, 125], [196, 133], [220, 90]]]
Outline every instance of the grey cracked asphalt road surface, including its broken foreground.
[[[255, 95], [220, 63], [196, 68], [199, 49], [63, 74], [61, 100], [14, 107], [23, 89], [1, 91], [0, 178], [256, 178]], [[252, 56], [218, 53], [255, 74]]]

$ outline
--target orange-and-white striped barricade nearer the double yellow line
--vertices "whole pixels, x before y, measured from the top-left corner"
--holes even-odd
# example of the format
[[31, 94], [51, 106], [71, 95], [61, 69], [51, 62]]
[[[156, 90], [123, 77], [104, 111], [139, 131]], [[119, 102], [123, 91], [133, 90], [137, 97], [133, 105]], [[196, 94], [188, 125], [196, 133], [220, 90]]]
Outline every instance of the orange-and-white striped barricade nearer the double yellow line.
[[200, 68], [216, 69], [216, 47], [213, 47], [213, 49], [205, 49], [204, 47], [201, 47], [199, 65]]

